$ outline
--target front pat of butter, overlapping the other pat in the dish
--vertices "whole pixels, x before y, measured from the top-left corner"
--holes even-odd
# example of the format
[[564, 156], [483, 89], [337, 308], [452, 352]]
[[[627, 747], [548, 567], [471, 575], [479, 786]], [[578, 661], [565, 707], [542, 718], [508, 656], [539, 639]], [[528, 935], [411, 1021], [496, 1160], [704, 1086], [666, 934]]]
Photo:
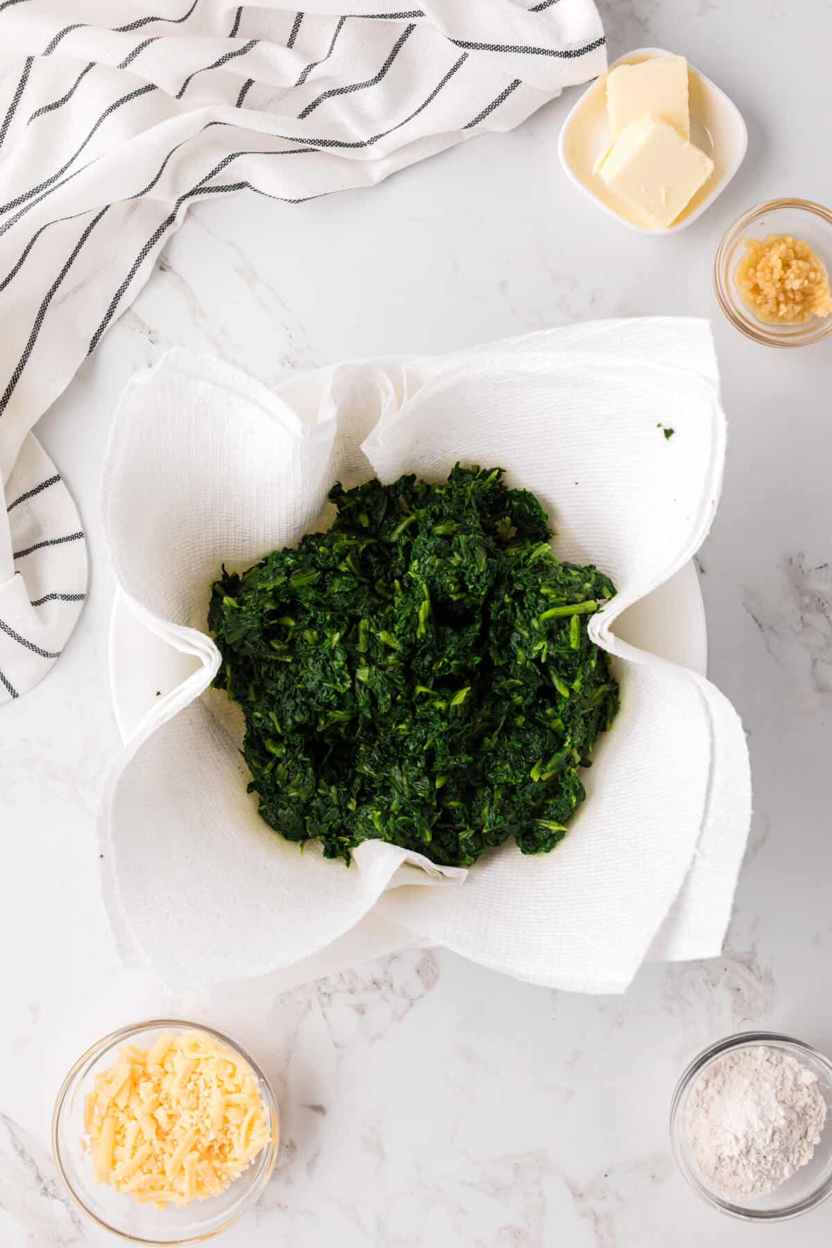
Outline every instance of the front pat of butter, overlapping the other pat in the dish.
[[639, 117], [612, 144], [601, 177], [654, 230], [672, 225], [713, 172], [713, 161], [666, 121]]

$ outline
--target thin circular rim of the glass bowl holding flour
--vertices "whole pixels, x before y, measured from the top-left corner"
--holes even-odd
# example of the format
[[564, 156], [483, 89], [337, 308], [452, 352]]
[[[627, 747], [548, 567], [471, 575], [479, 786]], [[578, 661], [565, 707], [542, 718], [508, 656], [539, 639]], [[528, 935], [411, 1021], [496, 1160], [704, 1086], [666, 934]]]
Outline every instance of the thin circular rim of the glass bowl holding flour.
[[[830, 1083], [832, 1083], [832, 1061], [818, 1048], [815, 1048], [812, 1045], [807, 1045], [806, 1041], [797, 1040], [795, 1036], [786, 1036], [783, 1032], [778, 1031], [733, 1032], [731, 1036], [725, 1036], [722, 1040], [717, 1040], [712, 1045], [704, 1048], [691, 1062], [689, 1062], [680, 1075], [674, 1091], [672, 1101], [670, 1103], [670, 1144], [680, 1174], [687, 1186], [692, 1188], [706, 1204], [710, 1204], [712, 1209], [717, 1209], [720, 1213], [726, 1213], [732, 1218], [738, 1218], [741, 1222], [788, 1222], [792, 1218], [800, 1217], [802, 1213], [808, 1213], [810, 1209], [816, 1209], [820, 1204], [823, 1204], [830, 1196], [832, 1196], [832, 1173], [828, 1174], [823, 1183], [821, 1183], [810, 1196], [801, 1201], [795, 1201], [792, 1204], [787, 1204], [782, 1209], [753, 1209], [748, 1206], [733, 1204], [731, 1201], [723, 1199], [716, 1192], [705, 1187], [696, 1172], [691, 1166], [689, 1166], [687, 1161], [682, 1156], [677, 1138], [679, 1132], [682, 1129], [680, 1123], [682, 1097], [694, 1085], [700, 1072], [715, 1058], [721, 1057], [723, 1053], [727, 1053], [733, 1048], [753, 1048], [757, 1046], [780, 1046], [781, 1048], [785, 1047], [797, 1050], [798, 1053], [803, 1053], [813, 1062], [817, 1062], [817, 1065], [826, 1071]], [[832, 1122], [827, 1123], [827, 1128], [832, 1129]]]

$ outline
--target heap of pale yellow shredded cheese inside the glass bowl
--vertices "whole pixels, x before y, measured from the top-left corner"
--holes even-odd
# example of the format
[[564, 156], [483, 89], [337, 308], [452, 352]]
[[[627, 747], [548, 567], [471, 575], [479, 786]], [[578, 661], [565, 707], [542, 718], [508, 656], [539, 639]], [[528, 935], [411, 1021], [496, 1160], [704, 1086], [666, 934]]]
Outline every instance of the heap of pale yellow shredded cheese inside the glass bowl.
[[218, 1196], [269, 1142], [253, 1071], [201, 1031], [125, 1046], [95, 1077], [85, 1129], [95, 1177], [157, 1208]]

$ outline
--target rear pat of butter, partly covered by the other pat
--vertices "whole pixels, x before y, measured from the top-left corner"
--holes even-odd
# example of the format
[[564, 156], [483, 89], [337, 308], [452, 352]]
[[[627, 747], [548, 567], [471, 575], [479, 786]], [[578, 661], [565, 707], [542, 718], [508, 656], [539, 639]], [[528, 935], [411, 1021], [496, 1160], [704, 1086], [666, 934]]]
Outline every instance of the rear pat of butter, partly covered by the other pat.
[[617, 65], [606, 79], [606, 116], [615, 141], [644, 114], [666, 121], [690, 139], [687, 61], [684, 56], [654, 56], [637, 65]]

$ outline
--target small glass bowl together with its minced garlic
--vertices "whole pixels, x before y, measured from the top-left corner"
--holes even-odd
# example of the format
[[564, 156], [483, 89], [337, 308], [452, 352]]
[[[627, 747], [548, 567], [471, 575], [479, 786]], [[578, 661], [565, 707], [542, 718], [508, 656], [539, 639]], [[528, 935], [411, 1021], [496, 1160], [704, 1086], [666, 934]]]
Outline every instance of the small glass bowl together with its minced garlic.
[[832, 334], [832, 211], [770, 200], [733, 222], [716, 253], [713, 285], [728, 321], [768, 347]]

